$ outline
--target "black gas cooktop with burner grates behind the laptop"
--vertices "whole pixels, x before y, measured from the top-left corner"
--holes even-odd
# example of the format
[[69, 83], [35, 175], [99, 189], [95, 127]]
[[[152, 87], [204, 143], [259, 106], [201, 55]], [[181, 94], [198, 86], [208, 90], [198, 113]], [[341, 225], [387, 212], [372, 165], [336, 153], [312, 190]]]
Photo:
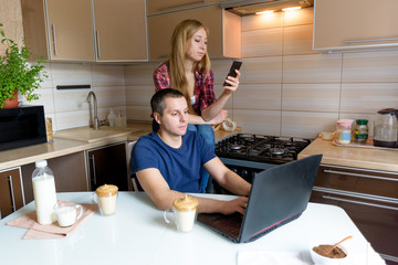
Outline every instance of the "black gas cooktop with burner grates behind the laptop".
[[281, 165], [297, 159], [310, 139], [238, 134], [217, 142], [216, 155], [222, 158]]

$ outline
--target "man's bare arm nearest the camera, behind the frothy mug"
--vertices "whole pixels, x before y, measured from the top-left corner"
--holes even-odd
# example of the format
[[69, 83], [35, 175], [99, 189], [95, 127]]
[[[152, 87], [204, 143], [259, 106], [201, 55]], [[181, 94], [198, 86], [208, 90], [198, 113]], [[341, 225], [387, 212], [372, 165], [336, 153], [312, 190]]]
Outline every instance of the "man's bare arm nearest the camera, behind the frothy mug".
[[[174, 200], [185, 197], [185, 193], [182, 192], [170, 190], [158, 169], [144, 169], [136, 172], [136, 176], [143, 189], [160, 210], [170, 209]], [[238, 176], [238, 178], [240, 177]], [[219, 212], [223, 214], [231, 214], [240, 212], [243, 214], [245, 204], [248, 203], [248, 198], [245, 197], [241, 197], [232, 201], [219, 201], [198, 197], [195, 198], [199, 201], [198, 212], [206, 213]]]

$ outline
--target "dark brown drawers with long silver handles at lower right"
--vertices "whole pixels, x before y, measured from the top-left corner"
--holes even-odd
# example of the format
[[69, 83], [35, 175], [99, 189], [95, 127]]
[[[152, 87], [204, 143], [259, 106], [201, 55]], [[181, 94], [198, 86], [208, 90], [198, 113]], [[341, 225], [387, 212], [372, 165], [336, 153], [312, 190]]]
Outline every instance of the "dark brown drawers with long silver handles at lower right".
[[398, 264], [398, 173], [322, 165], [312, 202], [343, 208], [388, 264]]

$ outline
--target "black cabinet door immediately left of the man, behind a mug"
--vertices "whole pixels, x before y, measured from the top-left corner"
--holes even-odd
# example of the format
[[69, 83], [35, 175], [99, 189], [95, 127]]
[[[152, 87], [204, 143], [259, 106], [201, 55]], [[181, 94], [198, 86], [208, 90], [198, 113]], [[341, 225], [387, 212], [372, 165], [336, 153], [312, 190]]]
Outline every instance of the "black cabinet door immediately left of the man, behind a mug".
[[115, 184], [119, 191], [127, 191], [126, 142], [90, 149], [86, 151], [90, 189], [103, 184]]

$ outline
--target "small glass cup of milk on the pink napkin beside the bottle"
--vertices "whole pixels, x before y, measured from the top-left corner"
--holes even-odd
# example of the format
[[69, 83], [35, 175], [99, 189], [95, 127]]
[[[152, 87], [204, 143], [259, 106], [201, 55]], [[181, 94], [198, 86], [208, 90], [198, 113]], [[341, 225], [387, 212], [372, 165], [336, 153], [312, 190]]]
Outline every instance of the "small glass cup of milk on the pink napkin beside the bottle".
[[83, 215], [83, 206], [73, 202], [59, 202], [54, 205], [54, 211], [61, 227], [73, 225]]

